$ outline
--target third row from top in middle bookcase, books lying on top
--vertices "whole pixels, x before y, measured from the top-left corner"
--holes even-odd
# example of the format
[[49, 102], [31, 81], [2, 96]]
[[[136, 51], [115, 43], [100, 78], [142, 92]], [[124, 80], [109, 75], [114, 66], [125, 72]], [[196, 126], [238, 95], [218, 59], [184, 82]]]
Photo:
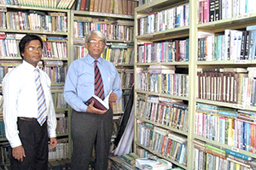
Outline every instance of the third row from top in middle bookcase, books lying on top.
[[138, 90], [188, 97], [188, 87], [189, 75], [175, 73], [166, 65], [150, 65], [149, 70], [137, 68]]

